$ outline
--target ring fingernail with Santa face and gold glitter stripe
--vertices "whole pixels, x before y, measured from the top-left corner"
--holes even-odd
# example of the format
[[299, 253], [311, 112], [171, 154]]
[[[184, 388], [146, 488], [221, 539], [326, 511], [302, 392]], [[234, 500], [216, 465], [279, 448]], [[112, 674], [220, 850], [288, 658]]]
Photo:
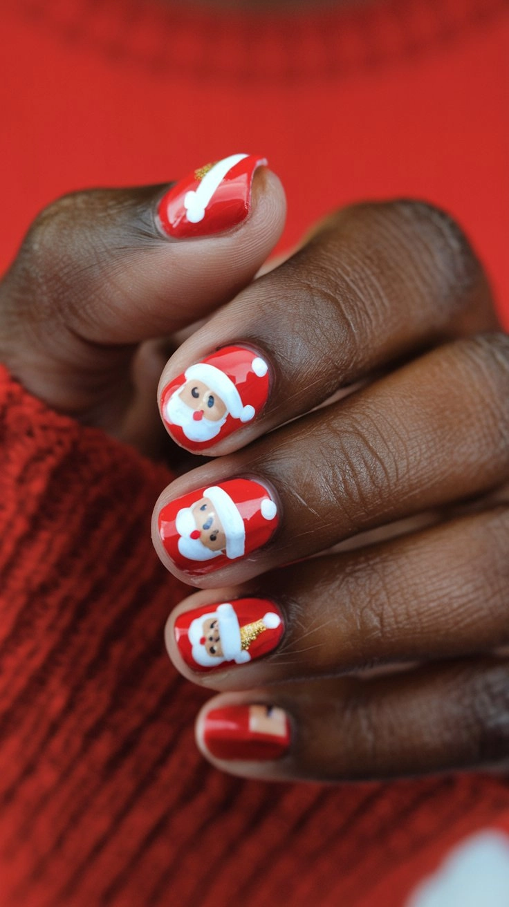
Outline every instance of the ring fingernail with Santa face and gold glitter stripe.
[[205, 672], [267, 655], [278, 645], [284, 624], [272, 601], [239, 599], [185, 611], [173, 632], [186, 665]]

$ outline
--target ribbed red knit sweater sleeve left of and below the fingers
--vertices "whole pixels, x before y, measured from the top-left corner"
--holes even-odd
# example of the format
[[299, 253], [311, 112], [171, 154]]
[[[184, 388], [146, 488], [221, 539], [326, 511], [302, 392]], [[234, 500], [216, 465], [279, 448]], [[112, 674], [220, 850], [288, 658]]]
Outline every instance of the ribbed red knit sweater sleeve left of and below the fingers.
[[[267, 785], [193, 741], [163, 647], [171, 476], [0, 367], [2, 907], [404, 907], [456, 842], [509, 832], [503, 778]], [[319, 895], [317, 892], [320, 892]]]

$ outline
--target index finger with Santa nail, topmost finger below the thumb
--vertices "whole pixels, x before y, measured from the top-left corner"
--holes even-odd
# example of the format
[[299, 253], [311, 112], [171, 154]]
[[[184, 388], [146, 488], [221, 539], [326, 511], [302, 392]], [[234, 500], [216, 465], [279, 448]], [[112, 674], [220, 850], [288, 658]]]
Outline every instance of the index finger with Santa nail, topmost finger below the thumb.
[[194, 453], [230, 453], [380, 366], [495, 326], [483, 269], [443, 211], [357, 205], [171, 357], [162, 420]]

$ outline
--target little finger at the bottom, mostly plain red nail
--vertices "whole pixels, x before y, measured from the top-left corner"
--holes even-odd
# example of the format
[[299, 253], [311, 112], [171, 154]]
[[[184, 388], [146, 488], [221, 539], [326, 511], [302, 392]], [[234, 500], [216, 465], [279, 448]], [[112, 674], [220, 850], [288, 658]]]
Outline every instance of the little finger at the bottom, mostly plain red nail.
[[369, 780], [504, 765], [509, 661], [225, 693], [197, 720], [201, 752], [264, 780]]

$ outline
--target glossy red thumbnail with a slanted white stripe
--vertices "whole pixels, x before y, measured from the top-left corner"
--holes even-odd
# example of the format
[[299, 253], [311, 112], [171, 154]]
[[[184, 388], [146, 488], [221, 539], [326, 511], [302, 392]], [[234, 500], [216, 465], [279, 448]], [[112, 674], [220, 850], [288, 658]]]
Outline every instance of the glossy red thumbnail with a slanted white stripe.
[[159, 203], [163, 232], [187, 239], [236, 227], [250, 213], [253, 175], [263, 164], [255, 154], [232, 154], [192, 171]]

